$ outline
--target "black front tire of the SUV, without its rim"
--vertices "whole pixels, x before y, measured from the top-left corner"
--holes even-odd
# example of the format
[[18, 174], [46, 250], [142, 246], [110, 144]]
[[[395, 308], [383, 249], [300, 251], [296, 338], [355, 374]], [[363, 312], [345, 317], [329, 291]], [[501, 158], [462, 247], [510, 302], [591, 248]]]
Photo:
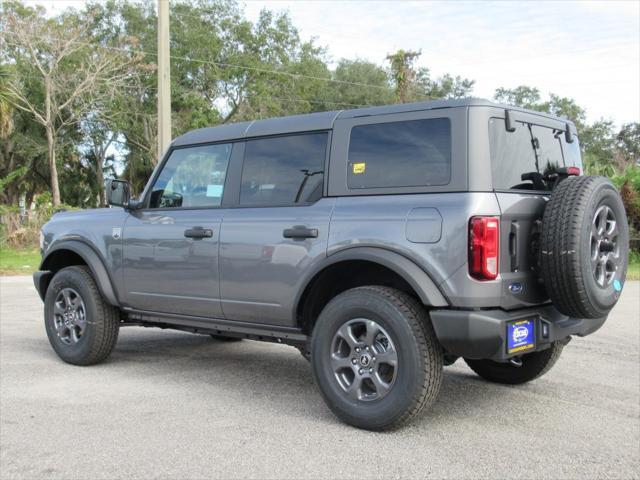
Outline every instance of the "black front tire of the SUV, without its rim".
[[[61, 339], [54, 323], [54, 303], [63, 289], [76, 291], [84, 302], [86, 310], [86, 330], [82, 337], [72, 344]], [[85, 266], [63, 268], [57, 272], [44, 300], [44, 322], [47, 337], [58, 356], [73, 365], [93, 365], [105, 360], [118, 340], [120, 311], [109, 305], [98, 290]]]

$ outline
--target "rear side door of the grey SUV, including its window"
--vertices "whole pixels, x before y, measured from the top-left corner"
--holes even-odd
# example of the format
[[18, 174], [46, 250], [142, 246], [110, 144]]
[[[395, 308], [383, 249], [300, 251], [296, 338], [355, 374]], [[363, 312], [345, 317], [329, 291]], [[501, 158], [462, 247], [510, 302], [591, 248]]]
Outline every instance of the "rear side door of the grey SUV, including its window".
[[246, 141], [237, 199], [220, 234], [226, 318], [293, 325], [303, 276], [326, 255], [335, 203], [323, 198], [328, 143], [328, 132]]

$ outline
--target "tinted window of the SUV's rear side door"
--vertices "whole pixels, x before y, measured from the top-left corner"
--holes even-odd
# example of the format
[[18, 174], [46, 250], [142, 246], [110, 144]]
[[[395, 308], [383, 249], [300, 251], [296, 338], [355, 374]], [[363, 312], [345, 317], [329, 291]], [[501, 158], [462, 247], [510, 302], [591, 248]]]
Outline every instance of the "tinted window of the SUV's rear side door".
[[246, 142], [240, 205], [285, 206], [322, 196], [327, 133]]

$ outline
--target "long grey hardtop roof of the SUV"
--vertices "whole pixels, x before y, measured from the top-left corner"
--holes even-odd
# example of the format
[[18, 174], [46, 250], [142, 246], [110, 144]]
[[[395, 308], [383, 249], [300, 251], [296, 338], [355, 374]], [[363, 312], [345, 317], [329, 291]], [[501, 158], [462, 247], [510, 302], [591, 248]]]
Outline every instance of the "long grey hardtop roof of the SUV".
[[381, 105], [377, 107], [355, 108], [351, 110], [332, 110], [329, 112], [306, 113], [303, 115], [290, 115], [287, 117], [275, 117], [264, 120], [253, 120], [247, 122], [224, 124], [216, 127], [199, 128], [197, 130], [191, 130], [177, 137], [173, 140], [171, 145], [173, 147], [180, 147], [185, 145], [213, 143], [226, 140], [240, 140], [243, 138], [261, 137], [267, 135], [331, 130], [336, 120], [344, 118], [388, 115], [392, 113], [435, 110], [441, 108], [478, 106], [532, 113], [554, 120], [560, 120], [573, 126], [573, 122], [567, 119], [561, 119], [544, 112], [513, 107], [510, 105], [503, 105], [481, 98], [462, 98], [454, 100], [431, 100], [428, 102]]

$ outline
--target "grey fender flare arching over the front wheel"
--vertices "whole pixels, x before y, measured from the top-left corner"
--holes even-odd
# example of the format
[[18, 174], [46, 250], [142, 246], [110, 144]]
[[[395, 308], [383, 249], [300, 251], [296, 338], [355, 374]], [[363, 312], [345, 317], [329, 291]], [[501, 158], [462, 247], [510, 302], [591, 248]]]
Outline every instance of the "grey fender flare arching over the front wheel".
[[[53, 278], [53, 272], [50, 270], [52, 254], [60, 250], [70, 250], [79, 255], [91, 270], [93, 279], [104, 299], [116, 307], [120, 305], [116, 290], [113, 287], [114, 284], [111, 281], [109, 272], [104, 266], [102, 259], [91, 246], [79, 240], [63, 240], [52, 245], [51, 248], [47, 250], [40, 264], [41, 272], [36, 272], [34, 275], [34, 282], [36, 283], [36, 289], [40, 294], [40, 298], [44, 300], [49, 282]], [[36, 276], [38, 276], [37, 280]]]

